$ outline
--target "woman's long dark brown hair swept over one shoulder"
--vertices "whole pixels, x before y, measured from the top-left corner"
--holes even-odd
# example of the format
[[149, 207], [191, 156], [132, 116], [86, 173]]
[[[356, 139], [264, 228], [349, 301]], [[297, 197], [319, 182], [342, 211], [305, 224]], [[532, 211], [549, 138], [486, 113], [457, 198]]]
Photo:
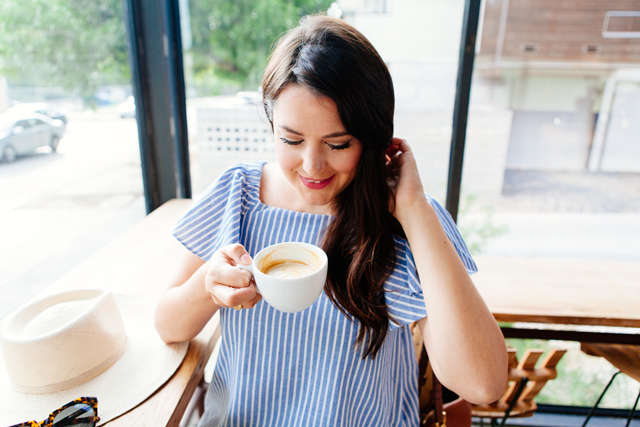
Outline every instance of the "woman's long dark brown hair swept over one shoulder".
[[334, 200], [335, 217], [322, 247], [329, 257], [325, 292], [347, 317], [360, 322], [355, 345], [374, 358], [390, 316], [383, 285], [396, 263], [385, 149], [393, 137], [393, 83], [371, 43], [346, 22], [307, 16], [273, 50], [262, 80], [264, 108], [273, 129], [273, 104], [284, 88], [301, 85], [332, 99], [347, 132], [363, 146], [354, 180]]

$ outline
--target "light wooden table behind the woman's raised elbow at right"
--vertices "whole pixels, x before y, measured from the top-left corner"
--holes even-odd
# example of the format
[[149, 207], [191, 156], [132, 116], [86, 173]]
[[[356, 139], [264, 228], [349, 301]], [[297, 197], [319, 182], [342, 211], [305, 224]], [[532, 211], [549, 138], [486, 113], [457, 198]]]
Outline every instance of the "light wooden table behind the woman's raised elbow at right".
[[[479, 272], [473, 281], [500, 322], [640, 328], [640, 262], [480, 256], [475, 260]], [[536, 334], [541, 335], [532, 331], [521, 338]], [[545, 334], [546, 339], [640, 344], [640, 335], [619, 331]]]

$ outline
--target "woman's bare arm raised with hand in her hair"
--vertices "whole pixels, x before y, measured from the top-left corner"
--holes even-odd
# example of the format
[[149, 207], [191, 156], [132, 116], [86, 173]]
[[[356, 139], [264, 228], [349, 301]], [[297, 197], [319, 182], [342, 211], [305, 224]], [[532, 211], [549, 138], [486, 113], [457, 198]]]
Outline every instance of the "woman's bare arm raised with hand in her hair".
[[394, 216], [409, 240], [429, 313], [418, 324], [434, 372], [466, 400], [493, 402], [507, 382], [500, 328], [424, 195], [411, 149], [394, 139], [388, 154], [397, 177]]

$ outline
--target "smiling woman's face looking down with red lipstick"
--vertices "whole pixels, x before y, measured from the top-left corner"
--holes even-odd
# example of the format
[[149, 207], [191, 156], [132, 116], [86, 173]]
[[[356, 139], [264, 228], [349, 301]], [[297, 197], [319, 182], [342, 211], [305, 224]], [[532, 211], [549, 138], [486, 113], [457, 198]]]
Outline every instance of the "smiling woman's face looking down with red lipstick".
[[273, 132], [278, 163], [303, 209], [326, 207], [320, 210], [331, 213], [362, 154], [362, 143], [346, 132], [335, 102], [290, 85], [273, 106]]

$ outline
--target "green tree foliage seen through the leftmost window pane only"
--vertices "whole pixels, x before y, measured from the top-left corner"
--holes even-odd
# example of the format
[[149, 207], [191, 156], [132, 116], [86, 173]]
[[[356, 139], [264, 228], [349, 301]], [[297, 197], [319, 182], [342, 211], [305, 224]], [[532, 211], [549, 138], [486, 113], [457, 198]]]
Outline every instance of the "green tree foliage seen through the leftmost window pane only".
[[0, 1], [0, 74], [83, 96], [129, 83], [122, 0]]

